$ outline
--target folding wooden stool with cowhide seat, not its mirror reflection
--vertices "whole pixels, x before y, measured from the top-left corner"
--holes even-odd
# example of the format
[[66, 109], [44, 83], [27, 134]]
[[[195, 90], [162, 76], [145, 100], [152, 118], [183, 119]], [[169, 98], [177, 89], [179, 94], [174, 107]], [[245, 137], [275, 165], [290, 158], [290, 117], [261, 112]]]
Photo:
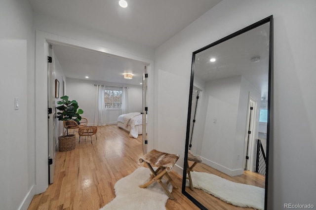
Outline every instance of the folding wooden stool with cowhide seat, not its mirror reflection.
[[[159, 152], [155, 149], [140, 157], [139, 162], [145, 162], [150, 171], [152, 172], [150, 180], [147, 183], [141, 185], [140, 187], [146, 188], [155, 181], [157, 181], [162, 186], [163, 190], [167, 193], [168, 197], [173, 200], [174, 197], [167, 189], [167, 185], [171, 183], [174, 188], [178, 189], [178, 187], [173, 182], [170, 175], [168, 175], [168, 172], [171, 172], [172, 167], [177, 162], [179, 157], [180, 155]], [[153, 167], [158, 167], [158, 169], [155, 171]], [[163, 176], [165, 176], [165, 178], [167, 179], [167, 182], [165, 184], [161, 181]]]

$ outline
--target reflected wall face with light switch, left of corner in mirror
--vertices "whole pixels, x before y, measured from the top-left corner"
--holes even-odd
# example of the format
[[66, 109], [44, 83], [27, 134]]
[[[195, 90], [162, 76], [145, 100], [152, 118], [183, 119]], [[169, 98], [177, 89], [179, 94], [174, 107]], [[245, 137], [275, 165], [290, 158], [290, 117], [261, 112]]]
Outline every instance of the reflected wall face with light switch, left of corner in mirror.
[[240, 83], [241, 76], [207, 82], [203, 94], [206, 109], [200, 110], [197, 118], [206, 115], [200, 156], [208, 165], [229, 175], [232, 175]]

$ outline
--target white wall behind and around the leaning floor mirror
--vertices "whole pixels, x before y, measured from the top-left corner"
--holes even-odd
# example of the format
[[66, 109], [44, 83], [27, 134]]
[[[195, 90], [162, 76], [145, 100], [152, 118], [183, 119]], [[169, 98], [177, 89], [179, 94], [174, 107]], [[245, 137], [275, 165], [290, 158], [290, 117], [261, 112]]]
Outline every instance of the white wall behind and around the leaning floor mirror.
[[[274, 15], [268, 209], [283, 209], [284, 203], [316, 205], [315, 11], [315, 0], [223, 0], [159, 46], [155, 147], [181, 154], [177, 165], [183, 166], [192, 52]], [[170, 97], [164, 90], [177, 94]], [[165, 107], [166, 102], [177, 108]]]

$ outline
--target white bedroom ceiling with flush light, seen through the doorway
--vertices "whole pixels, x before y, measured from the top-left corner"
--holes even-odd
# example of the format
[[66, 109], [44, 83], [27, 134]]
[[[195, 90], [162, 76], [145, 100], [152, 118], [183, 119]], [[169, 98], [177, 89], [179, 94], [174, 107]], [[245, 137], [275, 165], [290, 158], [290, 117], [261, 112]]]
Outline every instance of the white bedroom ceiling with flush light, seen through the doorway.
[[[140, 85], [145, 65], [126, 58], [101, 52], [53, 44], [54, 53], [66, 77], [94, 81], [106, 81]], [[133, 74], [133, 79], [124, 79], [123, 73]]]

